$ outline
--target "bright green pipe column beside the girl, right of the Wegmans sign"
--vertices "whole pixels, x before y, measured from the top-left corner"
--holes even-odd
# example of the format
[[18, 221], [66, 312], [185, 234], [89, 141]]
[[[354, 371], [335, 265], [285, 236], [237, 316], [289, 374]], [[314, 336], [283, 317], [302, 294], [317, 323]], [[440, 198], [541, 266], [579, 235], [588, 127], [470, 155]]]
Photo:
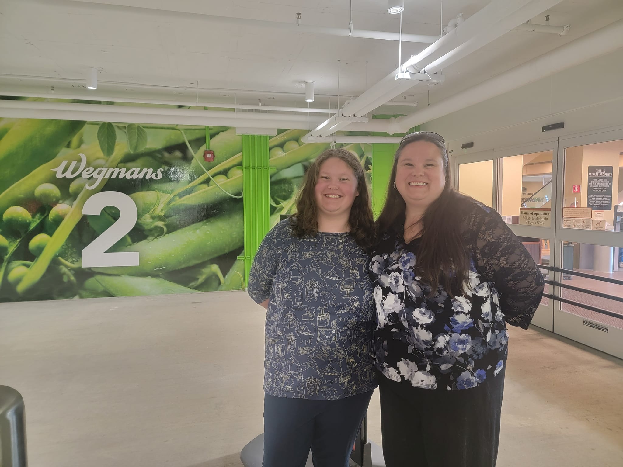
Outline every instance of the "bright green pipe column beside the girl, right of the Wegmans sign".
[[242, 136], [242, 206], [244, 210], [245, 284], [264, 236], [270, 230], [269, 137]]

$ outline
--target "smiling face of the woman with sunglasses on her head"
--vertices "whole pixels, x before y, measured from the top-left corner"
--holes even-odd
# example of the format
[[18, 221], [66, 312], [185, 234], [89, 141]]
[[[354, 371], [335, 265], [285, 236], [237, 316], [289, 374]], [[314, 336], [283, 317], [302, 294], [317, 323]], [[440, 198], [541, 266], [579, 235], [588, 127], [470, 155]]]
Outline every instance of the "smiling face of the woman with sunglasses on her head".
[[396, 189], [407, 206], [426, 209], [444, 191], [445, 170], [439, 148], [414, 141], [402, 149], [396, 166]]

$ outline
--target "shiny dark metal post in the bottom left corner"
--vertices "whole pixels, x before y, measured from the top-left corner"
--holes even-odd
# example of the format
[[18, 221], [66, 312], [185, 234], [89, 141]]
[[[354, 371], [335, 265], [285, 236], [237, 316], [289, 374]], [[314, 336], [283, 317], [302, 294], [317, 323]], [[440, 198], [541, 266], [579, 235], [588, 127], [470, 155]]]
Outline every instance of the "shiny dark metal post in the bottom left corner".
[[15, 389], [0, 385], [0, 467], [26, 467], [24, 399]]

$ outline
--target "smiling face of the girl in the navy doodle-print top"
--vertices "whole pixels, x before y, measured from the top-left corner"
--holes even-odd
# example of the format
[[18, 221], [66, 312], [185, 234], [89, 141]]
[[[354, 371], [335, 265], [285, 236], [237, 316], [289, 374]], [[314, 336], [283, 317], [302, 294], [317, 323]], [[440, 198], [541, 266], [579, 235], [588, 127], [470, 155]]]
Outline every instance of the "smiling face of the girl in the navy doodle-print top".
[[348, 218], [354, 199], [359, 196], [353, 170], [341, 159], [326, 159], [318, 169], [314, 195], [319, 215]]

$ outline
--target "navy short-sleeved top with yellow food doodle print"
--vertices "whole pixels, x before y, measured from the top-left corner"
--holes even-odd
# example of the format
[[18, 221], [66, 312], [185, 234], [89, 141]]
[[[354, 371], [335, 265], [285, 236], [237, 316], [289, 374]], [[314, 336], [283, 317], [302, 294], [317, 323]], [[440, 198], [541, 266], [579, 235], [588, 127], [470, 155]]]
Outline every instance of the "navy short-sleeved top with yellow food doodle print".
[[270, 298], [266, 394], [335, 400], [376, 387], [368, 262], [350, 234], [297, 238], [285, 219], [266, 235], [248, 287], [256, 303]]

